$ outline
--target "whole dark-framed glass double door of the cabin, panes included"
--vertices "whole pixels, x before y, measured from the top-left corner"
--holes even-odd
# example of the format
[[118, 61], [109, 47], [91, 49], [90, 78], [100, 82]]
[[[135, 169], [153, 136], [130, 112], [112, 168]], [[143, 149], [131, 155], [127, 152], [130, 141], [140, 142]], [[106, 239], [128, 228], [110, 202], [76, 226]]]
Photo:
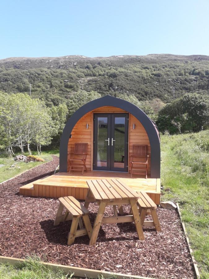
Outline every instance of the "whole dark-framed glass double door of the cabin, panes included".
[[94, 114], [94, 170], [128, 171], [128, 114]]

